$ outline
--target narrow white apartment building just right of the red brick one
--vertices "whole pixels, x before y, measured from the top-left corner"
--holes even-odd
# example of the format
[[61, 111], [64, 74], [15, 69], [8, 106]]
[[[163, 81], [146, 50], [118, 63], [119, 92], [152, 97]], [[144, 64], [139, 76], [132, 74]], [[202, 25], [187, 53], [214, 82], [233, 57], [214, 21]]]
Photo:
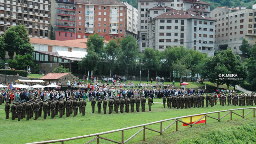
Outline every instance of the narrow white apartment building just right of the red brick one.
[[125, 9], [125, 33], [124, 36], [132, 35], [137, 37], [138, 34], [138, 9], [128, 4], [127, 2], [122, 2], [126, 5]]

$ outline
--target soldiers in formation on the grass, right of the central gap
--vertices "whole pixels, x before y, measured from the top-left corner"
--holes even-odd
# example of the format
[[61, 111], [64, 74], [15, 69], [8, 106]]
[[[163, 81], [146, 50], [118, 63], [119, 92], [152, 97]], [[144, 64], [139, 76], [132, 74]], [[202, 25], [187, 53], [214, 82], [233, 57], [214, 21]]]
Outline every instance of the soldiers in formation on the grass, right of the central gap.
[[[211, 107], [213, 107], [214, 105], [217, 105], [217, 93], [206, 93], [206, 96], [204, 96], [203, 94], [188, 94], [188, 95], [183, 95], [183, 94], [179, 94], [179, 95], [167, 95], [167, 98], [163, 98], [163, 105], [165, 108], [165, 102], [167, 102], [167, 107], [168, 108], [191, 108], [194, 106], [194, 108], [199, 108], [199, 107], [204, 107], [204, 100], [206, 103], [206, 108], [209, 106], [209, 104], [211, 105]], [[237, 93], [220, 93], [219, 95], [220, 97], [220, 105], [224, 106], [226, 105], [226, 103], [228, 102], [228, 105], [232, 105], [236, 106], [239, 104], [239, 106], [244, 106], [245, 102], [246, 105], [249, 106], [253, 106], [253, 100], [254, 103], [256, 105], [256, 96], [255, 93], [254, 94], [237, 94]]]

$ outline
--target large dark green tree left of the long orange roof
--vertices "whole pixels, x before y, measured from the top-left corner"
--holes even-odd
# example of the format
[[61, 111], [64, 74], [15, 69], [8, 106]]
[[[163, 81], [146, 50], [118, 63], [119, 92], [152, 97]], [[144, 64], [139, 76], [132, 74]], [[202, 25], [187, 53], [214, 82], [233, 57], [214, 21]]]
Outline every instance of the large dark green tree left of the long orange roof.
[[12, 26], [4, 33], [5, 50], [8, 52], [10, 59], [13, 59], [14, 52], [16, 55], [33, 54], [34, 47], [30, 44], [27, 28], [19, 24]]

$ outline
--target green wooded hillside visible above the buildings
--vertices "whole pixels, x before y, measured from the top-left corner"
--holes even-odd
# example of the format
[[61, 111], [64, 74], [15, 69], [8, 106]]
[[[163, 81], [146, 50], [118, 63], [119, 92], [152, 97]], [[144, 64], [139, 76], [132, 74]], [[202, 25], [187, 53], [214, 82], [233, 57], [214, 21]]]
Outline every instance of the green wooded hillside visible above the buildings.
[[[118, 0], [121, 2], [121, 0]], [[125, 0], [123, 0], [125, 1]], [[252, 5], [256, 3], [255, 0], [203, 0], [204, 2], [207, 2], [209, 4], [212, 4], [211, 10], [216, 8], [217, 6], [229, 6], [229, 7], [237, 7], [239, 4], [241, 4], [243, 7], [252, 8]], [[128, 4], [131, 4], [132, 6], [137, 8], [137, 1], [136, 0], [126, 0]]]

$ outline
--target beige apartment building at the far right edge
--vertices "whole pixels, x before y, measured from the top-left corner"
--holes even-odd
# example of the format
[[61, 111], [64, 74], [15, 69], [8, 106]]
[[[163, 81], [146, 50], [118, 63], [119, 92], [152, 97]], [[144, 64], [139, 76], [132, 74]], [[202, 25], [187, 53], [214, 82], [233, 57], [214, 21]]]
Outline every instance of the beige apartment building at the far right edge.
[[210, 13], [215, 23], [215, 48], [230, 47], [235, 53], [242, 53], [243, 38], [249, 44], [256, 41], [256, 9], [217, 7]]

